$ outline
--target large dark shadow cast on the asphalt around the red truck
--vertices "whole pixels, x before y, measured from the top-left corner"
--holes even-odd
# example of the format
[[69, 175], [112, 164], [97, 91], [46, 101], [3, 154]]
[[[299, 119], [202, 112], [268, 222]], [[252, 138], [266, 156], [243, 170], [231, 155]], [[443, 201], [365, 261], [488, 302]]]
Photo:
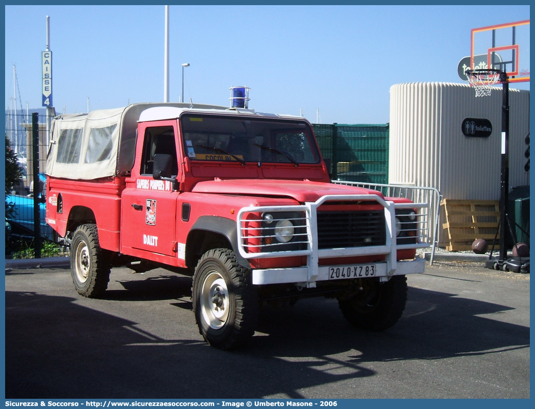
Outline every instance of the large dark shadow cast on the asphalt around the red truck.
[[[187, 280], [177, 278], [125, 284], [105, 300], [169, 299], [177, 306], [189, 291]], [[174, 289], [165, 292], [170, 283]], [[528, 327], [477, 316], [509, 307], [454, 295], [410, 287], [406, 315], [378, 333], [350, 327], [336, 300], [302, 300], [286, 312], [266, 307], [250, 344], [219, 351], [201, 336], [159, 338], [136, 322], [75, 304], [75, 298], [6, 291], [5, 396], [302, 398], [303, 389], [377, 375], [370, 362], [529, 347]]]

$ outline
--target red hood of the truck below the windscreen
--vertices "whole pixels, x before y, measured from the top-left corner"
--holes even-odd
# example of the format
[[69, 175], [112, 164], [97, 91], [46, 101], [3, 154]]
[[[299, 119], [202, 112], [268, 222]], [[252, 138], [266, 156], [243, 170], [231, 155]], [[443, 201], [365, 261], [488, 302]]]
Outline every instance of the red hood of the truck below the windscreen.
[[238, 194], [251, 196], [284, 196], [300, 203], [315, 202], [325, 195], [383, 194], [362, 187], [313, 182], [309, 180], [274, 179], [216, 179], [199, 182], [192, 190], [196, 193]]

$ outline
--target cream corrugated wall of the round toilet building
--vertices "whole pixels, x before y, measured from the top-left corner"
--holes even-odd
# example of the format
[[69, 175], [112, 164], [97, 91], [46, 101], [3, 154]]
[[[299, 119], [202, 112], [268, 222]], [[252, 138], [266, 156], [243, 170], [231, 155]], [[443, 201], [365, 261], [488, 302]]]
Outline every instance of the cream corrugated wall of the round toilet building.
[[[389, 183], [435, 187], [446, 199], [500, 198], [501, 87], [475, 97], [468, 85], [410, 83], [390, 88]], [[509, 90], [509, 184], [529, 185], [524, 139], [530, 93]], [[492, 123], [488, 138], [468, 138], [465, 118]]]

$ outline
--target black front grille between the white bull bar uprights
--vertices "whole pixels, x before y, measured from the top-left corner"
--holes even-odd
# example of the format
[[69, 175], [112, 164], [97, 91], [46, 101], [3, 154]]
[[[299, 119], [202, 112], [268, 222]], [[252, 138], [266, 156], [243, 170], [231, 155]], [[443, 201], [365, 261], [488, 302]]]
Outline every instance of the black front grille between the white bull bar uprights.
[[319, 248], [384, 246], [384, 210], [318, 211]]

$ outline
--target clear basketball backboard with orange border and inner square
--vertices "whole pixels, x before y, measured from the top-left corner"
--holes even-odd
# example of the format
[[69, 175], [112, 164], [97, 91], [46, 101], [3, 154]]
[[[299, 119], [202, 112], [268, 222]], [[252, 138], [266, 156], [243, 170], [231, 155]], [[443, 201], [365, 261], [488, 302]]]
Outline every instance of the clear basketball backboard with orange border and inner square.
[[470, 67], [505, 71], [508, 82], [529, 82], [530, 20], [473, 28]]

